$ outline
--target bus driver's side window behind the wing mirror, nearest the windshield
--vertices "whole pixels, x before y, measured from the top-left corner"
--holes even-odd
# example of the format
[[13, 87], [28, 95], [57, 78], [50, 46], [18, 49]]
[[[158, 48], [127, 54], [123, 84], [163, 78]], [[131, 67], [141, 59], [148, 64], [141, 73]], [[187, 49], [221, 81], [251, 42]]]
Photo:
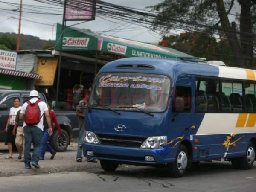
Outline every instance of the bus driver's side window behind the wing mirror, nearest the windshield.
[[[181, 97], [184, 101], [184, 109], [182, 112], [190, 112], [191, 110], [191, 87], [185, 86], [177, 86], [175, 89], [175, 99]], [[175, 110], [175, 99], [173, 100], [172, 111], [177, 112]]]

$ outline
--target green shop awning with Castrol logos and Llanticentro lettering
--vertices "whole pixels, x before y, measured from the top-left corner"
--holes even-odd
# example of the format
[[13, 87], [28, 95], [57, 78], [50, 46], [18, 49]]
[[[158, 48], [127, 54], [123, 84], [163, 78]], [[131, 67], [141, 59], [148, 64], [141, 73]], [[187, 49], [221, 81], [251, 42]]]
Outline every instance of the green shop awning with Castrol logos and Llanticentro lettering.
[[[60, 48], [61, 25], [57, 24], [56, 50]], [[86, 29], [66, 27], [64, 29], [62, 49], [64, 51], [101, 51], [123, 57], [155, 57], [175, 59], [196, 59], [192, 55], [172, 48], [117, 38], [110, 35], [98, 35]]]

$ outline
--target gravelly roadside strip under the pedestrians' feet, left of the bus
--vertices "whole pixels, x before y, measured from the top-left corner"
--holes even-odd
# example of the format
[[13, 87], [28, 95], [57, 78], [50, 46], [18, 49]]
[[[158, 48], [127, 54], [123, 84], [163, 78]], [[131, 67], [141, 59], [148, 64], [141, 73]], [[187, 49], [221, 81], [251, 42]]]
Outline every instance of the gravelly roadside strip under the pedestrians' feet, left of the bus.
[[13, 154], [13, 159], [5, 159], [8, 155], [7, 146], [0, 143], [0, 177], [14, 175], [34, 175], [53, 172], [83, 172], [88, 169], [100, 168], [98, 163], [87, 163], [83, 158], [82, 163], [76, 162], [77, 143], [70, 143], [67, 151], [57, 153], [53, 160], [50, 160], [51, 154], [47, 152], [44, 160], [39, 161], [40, 169], [25, 169], [24, 163], [18, 160], [18, 153]]

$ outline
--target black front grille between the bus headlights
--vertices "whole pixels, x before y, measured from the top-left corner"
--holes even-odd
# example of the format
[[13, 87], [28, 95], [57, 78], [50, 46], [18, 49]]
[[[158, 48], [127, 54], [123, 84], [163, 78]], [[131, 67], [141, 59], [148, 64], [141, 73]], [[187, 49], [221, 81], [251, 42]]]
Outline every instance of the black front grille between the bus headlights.
[[140, 147], [140, 145], [146, 140], [145, 137], [126, 137], [126, 136], [114, 136], [97, 134], [99, 142], [103, 145], [115, 145], [122, 147]]

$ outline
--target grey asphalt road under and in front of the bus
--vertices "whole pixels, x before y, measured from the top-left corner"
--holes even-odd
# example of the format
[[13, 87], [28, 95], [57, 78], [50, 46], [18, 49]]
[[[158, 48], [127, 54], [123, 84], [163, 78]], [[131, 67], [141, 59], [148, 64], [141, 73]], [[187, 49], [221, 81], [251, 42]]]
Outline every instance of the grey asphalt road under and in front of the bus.
[[[256, 162], [255, 162], [256, 163]], [[102, 169], [0, 177], [0, 192], [256, 192], [256, 165], [235, 170], [228, 162], [202, 162], [183, 178], [170, 178], [164, 169], [121, 166], [111, 174]]]

